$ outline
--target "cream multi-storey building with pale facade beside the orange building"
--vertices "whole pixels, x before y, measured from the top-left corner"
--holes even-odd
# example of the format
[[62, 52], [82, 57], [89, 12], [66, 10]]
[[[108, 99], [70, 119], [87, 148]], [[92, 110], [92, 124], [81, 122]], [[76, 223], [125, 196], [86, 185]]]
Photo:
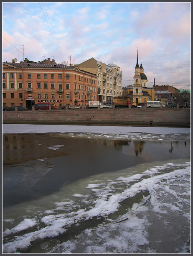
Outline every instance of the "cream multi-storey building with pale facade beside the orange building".
[[106, 65], [91, 58], [76, 66], [97, 75], [97, 96], [100, 102], [113, 103], [115, 97], [122, 96], [122, 71], [116, 64]]

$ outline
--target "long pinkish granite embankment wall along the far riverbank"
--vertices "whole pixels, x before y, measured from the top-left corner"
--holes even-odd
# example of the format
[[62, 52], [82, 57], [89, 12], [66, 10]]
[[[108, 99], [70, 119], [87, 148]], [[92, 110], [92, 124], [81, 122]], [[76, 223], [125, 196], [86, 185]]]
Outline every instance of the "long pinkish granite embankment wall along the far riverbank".
[[161, 125], [190, 127], [190, 108], [26, 110], [3, 112], [3, 123]]

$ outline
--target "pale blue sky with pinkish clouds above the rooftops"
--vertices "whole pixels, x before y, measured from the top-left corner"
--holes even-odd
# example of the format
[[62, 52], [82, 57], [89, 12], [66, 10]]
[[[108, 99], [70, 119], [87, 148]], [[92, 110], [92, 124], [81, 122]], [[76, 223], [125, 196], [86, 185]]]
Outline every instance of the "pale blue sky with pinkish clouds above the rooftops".
[[[11, 18], [10, 18], [11, 17]], [[114, 63], [123, 87], [142, 63], [147, 86], [190, 89], [190, 2], [2, 3], [2, 61]]]

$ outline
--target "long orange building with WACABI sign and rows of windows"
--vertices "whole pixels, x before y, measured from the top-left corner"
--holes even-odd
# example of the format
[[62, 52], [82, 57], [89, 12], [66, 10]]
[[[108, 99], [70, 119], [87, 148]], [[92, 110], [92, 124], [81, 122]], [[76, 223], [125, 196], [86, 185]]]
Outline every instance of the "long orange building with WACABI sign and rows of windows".
[[32, 109], [38, 102], [88, 105], [97, 100], [97, 76], [56, 63], [3, 62], [3, 105]]

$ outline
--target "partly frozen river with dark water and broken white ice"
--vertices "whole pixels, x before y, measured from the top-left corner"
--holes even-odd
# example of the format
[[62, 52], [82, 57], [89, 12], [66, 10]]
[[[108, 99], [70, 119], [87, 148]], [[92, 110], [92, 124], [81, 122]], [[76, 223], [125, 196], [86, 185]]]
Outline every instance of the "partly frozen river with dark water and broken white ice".
[[190, 128], [3, 124], [3, 253], [190, 253]]

